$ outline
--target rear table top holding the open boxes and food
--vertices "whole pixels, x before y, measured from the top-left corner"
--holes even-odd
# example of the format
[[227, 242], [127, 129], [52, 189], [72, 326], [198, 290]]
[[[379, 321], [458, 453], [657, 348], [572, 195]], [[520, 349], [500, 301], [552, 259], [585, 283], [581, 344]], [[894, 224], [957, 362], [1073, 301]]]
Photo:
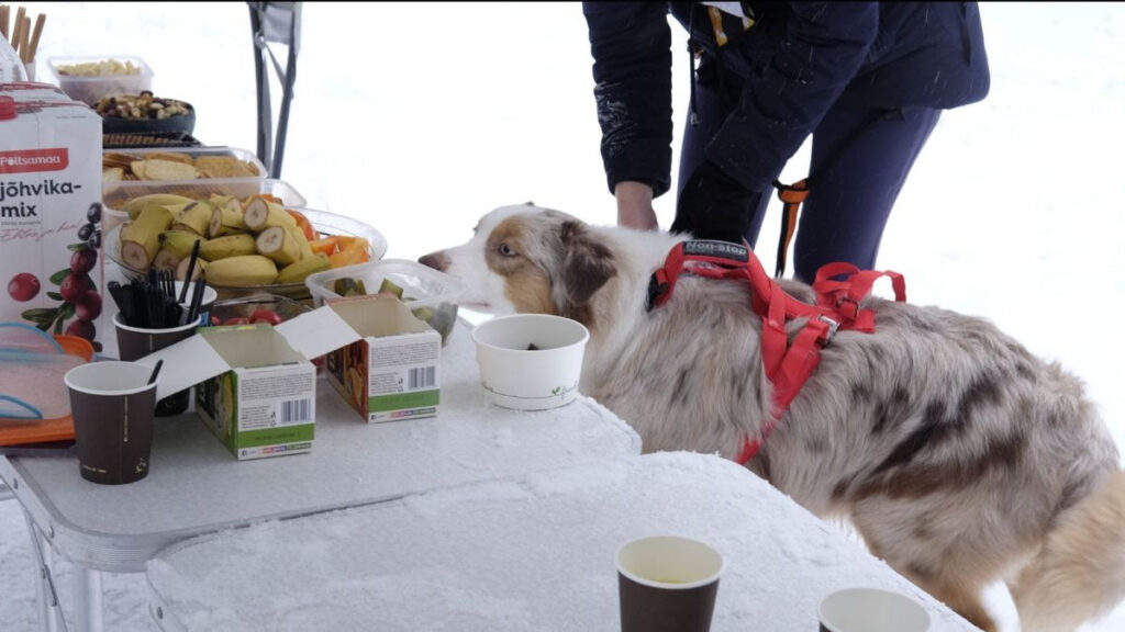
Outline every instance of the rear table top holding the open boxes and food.
[[0, 457], [0, 478], [56, 552], [140, 572], [161, 548], [218, 529], [640, 452], [636, 432], [590, 398], [538, 413], [488, 405], [470, 328], [459, 320], [442, 350], [436, 417], [368, 424], [322, 378], [307, 454], [237, 461], [189, 412], [156, 418], [137, 482], [89, 482], [75, 457]]

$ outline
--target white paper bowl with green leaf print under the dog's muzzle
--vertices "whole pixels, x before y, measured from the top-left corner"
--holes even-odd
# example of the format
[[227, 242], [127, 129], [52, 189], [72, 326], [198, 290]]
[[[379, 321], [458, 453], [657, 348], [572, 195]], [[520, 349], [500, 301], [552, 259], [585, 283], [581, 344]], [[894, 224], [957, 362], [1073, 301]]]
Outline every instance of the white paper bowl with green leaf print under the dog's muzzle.
[[504, 408], [544, 410], [578, 395], [590, 332], [548, 314], [498, 316], [472, 329], [480, 383]]

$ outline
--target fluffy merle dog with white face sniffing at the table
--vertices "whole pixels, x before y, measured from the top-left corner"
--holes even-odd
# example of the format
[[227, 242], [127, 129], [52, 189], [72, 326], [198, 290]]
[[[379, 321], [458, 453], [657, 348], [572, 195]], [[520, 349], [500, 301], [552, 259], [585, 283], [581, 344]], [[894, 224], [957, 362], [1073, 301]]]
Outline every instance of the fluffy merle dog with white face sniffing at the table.
[[[462, 305], [557, 314], [590, 329], [579, 391], [644, 451], [735, 458], [771, 415], [749, 286], [649, 279], [687, 235], [588, 225], [528, 205], [418, 259], [462, 279]], [[814, 301], [803, 283], [777, 281]], [[1073, 630], [1125, 597], [1125, 473], [1081, 382], [983, 318], [865, 298], [872, 333], [839, 331], [747, 467], [976, 626], [1005, 580], [1025, 632]], [[792, 337], [803, 318], [791, 320]]]

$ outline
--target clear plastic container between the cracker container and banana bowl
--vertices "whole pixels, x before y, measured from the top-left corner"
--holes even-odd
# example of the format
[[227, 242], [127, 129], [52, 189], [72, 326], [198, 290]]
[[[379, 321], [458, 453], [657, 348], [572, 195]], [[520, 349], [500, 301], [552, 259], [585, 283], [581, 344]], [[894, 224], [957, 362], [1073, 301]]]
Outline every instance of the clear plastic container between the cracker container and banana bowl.
[[[136, 150], [130, 150], [136, 151]], [[101, 183], [102, 231], [128, 219], [122, 208], [133, 198], [151, 193], [176, 193], [187, 198], [207, 198], [212, 193], [246, 198], [269, 193], [281, 199], [286, 207], [304, 207], [305, 197], [285, 180], [270, 178], [216, 178], [207, 180], [122, 180]]]

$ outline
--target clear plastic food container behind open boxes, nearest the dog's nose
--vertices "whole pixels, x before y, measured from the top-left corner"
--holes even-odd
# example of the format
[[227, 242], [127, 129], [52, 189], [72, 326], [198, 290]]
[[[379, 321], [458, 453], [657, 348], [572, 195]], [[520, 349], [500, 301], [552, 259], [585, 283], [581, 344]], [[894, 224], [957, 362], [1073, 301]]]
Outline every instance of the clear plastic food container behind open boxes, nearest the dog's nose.
[[384, 280], [402, 288], [399, 298], [415, 316], [441, 334], [442, 344], [453, 331], [457, 305], [465, 291], [465, 285], [456, 277], [406, 259], [386, 259], [309, 274], [305, 285], [313, 295], [313, 305], [320, 307], [325, 300], [343, 296], [336, 292], [336, 281], [342, 279], [357, 285], [362, 281], [364, 294], [377, 294]]

